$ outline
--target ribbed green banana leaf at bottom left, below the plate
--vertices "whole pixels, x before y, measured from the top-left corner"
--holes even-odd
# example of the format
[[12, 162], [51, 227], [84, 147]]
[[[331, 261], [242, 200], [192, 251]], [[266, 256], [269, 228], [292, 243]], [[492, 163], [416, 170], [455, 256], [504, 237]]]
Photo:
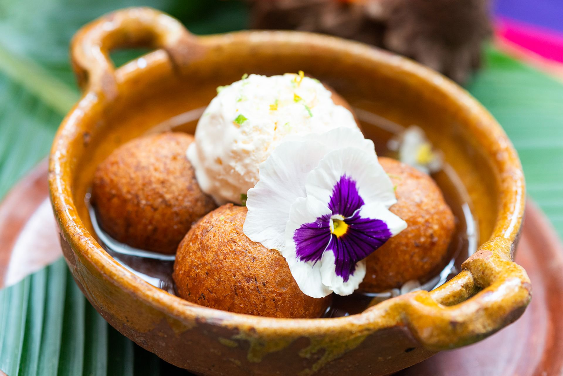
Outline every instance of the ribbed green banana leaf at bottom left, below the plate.
[[189, 375], [111, 328], [62, 258], [0, 290], [0, 307], [0, 370], [8, 376]]

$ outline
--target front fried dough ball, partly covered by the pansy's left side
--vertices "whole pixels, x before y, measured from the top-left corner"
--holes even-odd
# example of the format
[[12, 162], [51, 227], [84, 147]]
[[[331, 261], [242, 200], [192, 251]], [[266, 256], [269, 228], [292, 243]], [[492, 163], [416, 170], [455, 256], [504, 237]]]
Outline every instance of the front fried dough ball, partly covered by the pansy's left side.
[[330, 295], [302, 293], [282, 255], [243, 233], [247, 208], [226, 204], [204, 216], [182, 240], [174, 263], [180, 297], [205, 307], [249, 315], [314, 318]]

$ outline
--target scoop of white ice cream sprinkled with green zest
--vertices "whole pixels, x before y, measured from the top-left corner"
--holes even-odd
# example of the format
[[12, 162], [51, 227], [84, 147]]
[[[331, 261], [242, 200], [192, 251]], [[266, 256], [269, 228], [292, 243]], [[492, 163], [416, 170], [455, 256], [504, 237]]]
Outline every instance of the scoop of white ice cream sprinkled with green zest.
[[258, 182], [258, 165], [285, 138], [357, 128], [318, 80], [298, 74], [250, 76], [217, 89], [199, 119], [187, 158], [202, 190], [217, 204], [240, 204]]

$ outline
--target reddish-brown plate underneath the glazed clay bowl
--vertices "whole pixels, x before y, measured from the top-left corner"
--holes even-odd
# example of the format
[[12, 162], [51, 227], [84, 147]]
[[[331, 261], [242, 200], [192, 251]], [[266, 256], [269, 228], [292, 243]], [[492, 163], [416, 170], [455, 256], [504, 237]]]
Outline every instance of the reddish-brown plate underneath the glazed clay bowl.
[[[43, 162], [0, 205], [0, 286], [16, 282], [61, 255], [47, 196], [47, 164]], [[519, 320], [488, 339], [441, 352], [396, 375], [562, 375], [563, 248], [531, 203], [526, 207], [516, 262], [528, 271], [533, 285], [533, 299]], [[186, 371], [172, 368], [166, 366], [166, 374], [186, 375]]]

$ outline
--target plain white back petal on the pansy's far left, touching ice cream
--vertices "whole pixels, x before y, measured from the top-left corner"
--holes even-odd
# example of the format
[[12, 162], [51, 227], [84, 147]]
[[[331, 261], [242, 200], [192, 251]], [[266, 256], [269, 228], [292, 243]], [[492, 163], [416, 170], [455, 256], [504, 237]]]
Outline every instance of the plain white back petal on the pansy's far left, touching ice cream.
[[305, 197], [305, 180], [327, 148], [315, 141], [280, 144], [260, 165], [260, 180], [248, 190], [244, 235], [267, 249], [281, 250], [291, 205]]

